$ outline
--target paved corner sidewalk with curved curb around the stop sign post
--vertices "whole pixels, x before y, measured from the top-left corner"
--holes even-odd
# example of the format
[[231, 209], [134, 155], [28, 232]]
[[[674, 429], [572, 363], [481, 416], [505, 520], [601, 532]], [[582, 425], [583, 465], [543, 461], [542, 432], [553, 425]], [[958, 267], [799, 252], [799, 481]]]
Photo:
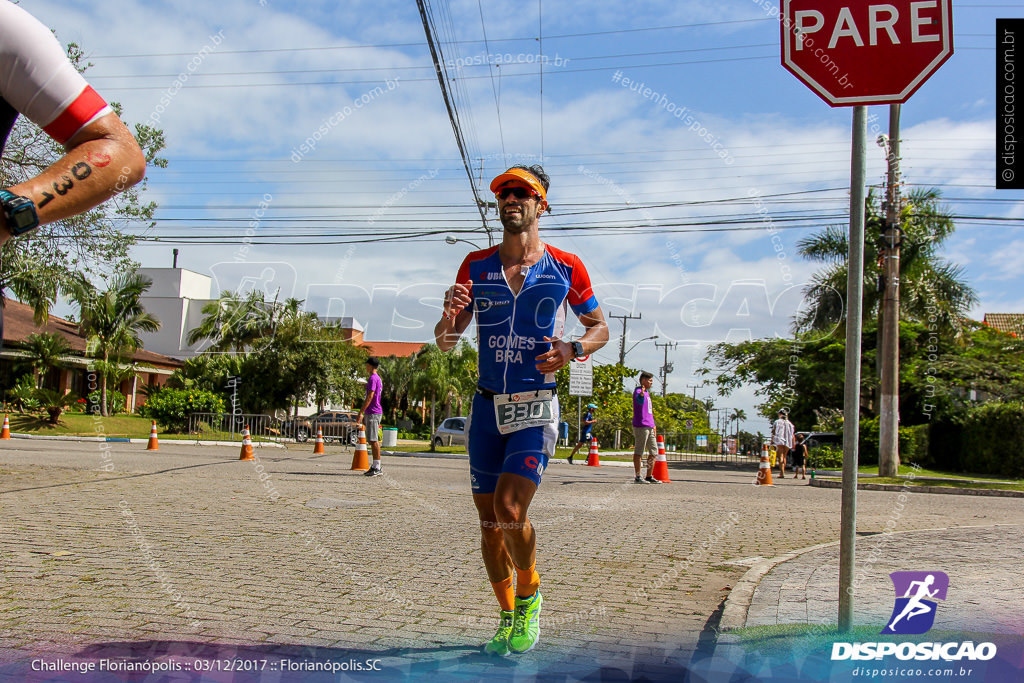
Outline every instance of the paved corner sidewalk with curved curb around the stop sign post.
[[[972, 665], [974, 678], [969, 674], [965, 680], [1020, 680], [1016, 677], [1020, 676], [1024, 660], [1024, 612], [1020, 607], [1021, 575], [1024, 575], [1022, 547], [1024, 525], [1021, 524], [858, 537], [853, 573], [854, 631], [844, 635], [836, 633], [839, 542], [771, 559], [748, 558], [751, 569], [726, 600], [714, 655], [697, 667], [714, 675], [742, 672], [765, 679], [784, 675], [785, 680], [805, 680], [804, 676], [809, 677], [806, 680], [815, 680], [813, 676], [848, 680], [850, 670], [859, 666], [887, 669], [912, 664], [916, 666], [911, 668], [914, 672], [929, 667], [923, 668], [916, 660], [894, 661], [893, 656], [885, 660], [868, 658], [866, 663], [837, 660], [833, 657], [836, 642], [970, 640], [996, 643], [999, 656], [991, 661], [966, 661]], [[893, 571], [942, 571], [948, 575], [946, 597], [936, 600], [934, 624], [926, 634], [881, 635], [897, 597], [889, 577]], [[812, 628], [795, 628], [799, 626]], [[754, 644], [755, 640], [761, 641], [760, 646]], [[950, 663], [939, 660], [939, 664], [944, 672], [949, 671]], [[959, 666], [958, 661], [955, 664]], [[938, 669], [934, 666], [929, 672], [914, 676], [935, 676]]]

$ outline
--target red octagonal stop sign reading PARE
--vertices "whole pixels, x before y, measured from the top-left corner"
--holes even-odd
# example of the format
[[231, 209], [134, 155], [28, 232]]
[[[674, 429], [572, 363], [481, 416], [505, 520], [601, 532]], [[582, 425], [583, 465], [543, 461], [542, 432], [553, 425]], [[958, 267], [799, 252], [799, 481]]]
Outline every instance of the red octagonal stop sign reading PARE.
[[951, 0], [783, 0], [782, 66], [833, 106], [895, 104], [953, 53]]

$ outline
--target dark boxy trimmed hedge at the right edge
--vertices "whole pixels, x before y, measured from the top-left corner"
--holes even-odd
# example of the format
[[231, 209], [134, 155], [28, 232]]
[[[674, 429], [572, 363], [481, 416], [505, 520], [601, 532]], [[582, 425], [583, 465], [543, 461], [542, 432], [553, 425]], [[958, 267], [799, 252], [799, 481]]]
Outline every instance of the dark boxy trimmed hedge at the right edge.
[[984, 403], [968, 411], [962, 471], [1024, 477], [1024, 404]]

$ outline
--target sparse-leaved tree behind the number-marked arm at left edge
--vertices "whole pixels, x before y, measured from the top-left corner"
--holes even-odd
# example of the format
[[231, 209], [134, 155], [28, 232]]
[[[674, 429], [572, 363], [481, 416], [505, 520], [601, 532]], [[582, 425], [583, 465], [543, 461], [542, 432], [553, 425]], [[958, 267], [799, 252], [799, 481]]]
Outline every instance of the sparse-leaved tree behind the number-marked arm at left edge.
[[[68, 46], [68, 56], [80, 72], [91, 66], [74, 43]], [[119, 104], [111, 105], [126, 120]], [[165, 146], [163, 131], [135, 124], [134, 133], [148, 167], [166, 167], [167, 160], [159, 156]], [[0, 186], [34, 177], [63, 153], [61, 145], [19, 117], [0, 160]], [[0, 248], [0, 288], [9, 289], [33, 306], [36, 322], [42, 324], [57, 297], [73, 292], [80, 275], [96, 278], [133, 269], [128, 252], [139, 231], [124, 228], [128, 224], [135, 228], [154, 225], [157, 205], [143, 201], [145, 189], [146, 180], [142, 180], [84, 214], [44, 225], [19, 240], [8, 240]]]

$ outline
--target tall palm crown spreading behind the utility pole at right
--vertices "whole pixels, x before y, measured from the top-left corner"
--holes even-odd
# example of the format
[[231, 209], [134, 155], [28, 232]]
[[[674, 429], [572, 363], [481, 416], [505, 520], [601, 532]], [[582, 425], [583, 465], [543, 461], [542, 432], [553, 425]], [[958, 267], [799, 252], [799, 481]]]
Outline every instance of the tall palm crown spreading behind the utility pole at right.
[[[941, 194], [935, 188], [910, 191], [900, 214], [903, 232], [900, 254], [900, 317], [905, 321], [935, 321], [943, 331], [961, 336], [967, 312], [977, 301], [974, 290], [964, 281], [961, 266], [938, 256], [942, 243], [955, 229], [952, 216], [939, 205]], [[885, 217], [874, 193], [866, 200], [867, 220], [864, 230], [864, 282], [870, 285], [882, 275], [884, 249], [879, 241]], [[845, 226], [831, 225], [797, 244], [800, 254], [812, 261], [827, 264], [805, 288], [810, 302], [797, 314], [798, 332], [827, 332], [841, 324], [848, 278], [849, 237]], [[882, 292], [864, 288], [863, 315], [880, 315]]]

